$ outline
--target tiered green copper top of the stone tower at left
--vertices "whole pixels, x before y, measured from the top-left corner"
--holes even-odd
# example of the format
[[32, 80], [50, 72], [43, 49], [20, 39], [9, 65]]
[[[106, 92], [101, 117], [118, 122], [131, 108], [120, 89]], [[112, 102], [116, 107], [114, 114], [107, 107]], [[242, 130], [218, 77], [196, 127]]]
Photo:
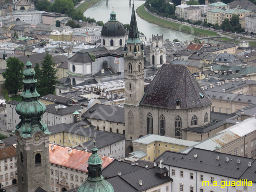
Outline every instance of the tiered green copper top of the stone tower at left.
[[39, 101], [40, 94], [37, 92], [35, 79], [35, 71], [31, 68], [32, 63], [29, 60], [26, 63], [26, 69], [23, 71], [25, 77], [23, 83], [23, 92], [20, 95], [22, 101], [16, 106], [16, 112], [20, 115], [20, 123], [16, 126], [20, 136], [27, 138], [32, 137], [33, 133], [43, 131], [50, 134], [46, 124], [41, 120], [41, 116], [45, 113], [45, 105]]

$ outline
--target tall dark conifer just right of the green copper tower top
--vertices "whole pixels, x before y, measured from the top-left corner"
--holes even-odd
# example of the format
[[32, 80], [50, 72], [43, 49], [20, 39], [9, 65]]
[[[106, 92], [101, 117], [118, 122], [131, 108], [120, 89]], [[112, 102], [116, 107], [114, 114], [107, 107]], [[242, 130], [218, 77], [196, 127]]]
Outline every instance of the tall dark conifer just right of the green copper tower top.
[[47, 94], [52, 94], [55, 91], [56, 80], [56, 64], [52, 59], [52, 55], [46, 52], [45, 57], [43, 57], [41, 72], [39, 76], [39, 85], [37, 87], [38, 92], [41, 96], [45, 96]]

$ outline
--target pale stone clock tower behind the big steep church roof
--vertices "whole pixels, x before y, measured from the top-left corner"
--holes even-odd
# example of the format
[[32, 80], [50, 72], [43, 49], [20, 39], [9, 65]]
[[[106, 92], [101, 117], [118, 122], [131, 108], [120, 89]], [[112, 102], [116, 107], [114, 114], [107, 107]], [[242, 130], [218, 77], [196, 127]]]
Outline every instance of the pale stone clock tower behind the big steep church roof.
[[[163, 35], [152, 35], [152, 46], [150, 46], [149, 50], [149, 63], [152, 64], [154, 68], [160, 69], [166, 61], [165, 53]], [[158, 72], [158, 70], [156, 72]]]

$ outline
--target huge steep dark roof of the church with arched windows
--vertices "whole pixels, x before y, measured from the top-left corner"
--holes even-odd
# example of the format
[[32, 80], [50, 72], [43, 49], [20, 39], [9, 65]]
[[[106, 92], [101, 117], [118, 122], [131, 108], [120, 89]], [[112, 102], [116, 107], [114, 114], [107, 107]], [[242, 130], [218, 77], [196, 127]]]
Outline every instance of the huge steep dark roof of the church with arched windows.
[[176, 100], [181, 102], [180, 109], [211, 104], [211, 98], [205, 94], [186, 66], [163, 64], [145, 88], [140, 104], [176, 109]]

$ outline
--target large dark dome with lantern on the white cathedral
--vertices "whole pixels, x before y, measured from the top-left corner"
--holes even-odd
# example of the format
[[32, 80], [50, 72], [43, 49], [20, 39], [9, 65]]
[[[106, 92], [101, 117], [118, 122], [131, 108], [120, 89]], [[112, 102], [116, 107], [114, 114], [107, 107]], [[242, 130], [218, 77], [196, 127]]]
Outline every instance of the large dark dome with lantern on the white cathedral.
[[101, 30], [101, 35], [104, 37], [120, 37], [125, 36], [125, 29], [121, 22], [116, 18], [116, 13], [110, 13], [110, 19], [106, 22]]

